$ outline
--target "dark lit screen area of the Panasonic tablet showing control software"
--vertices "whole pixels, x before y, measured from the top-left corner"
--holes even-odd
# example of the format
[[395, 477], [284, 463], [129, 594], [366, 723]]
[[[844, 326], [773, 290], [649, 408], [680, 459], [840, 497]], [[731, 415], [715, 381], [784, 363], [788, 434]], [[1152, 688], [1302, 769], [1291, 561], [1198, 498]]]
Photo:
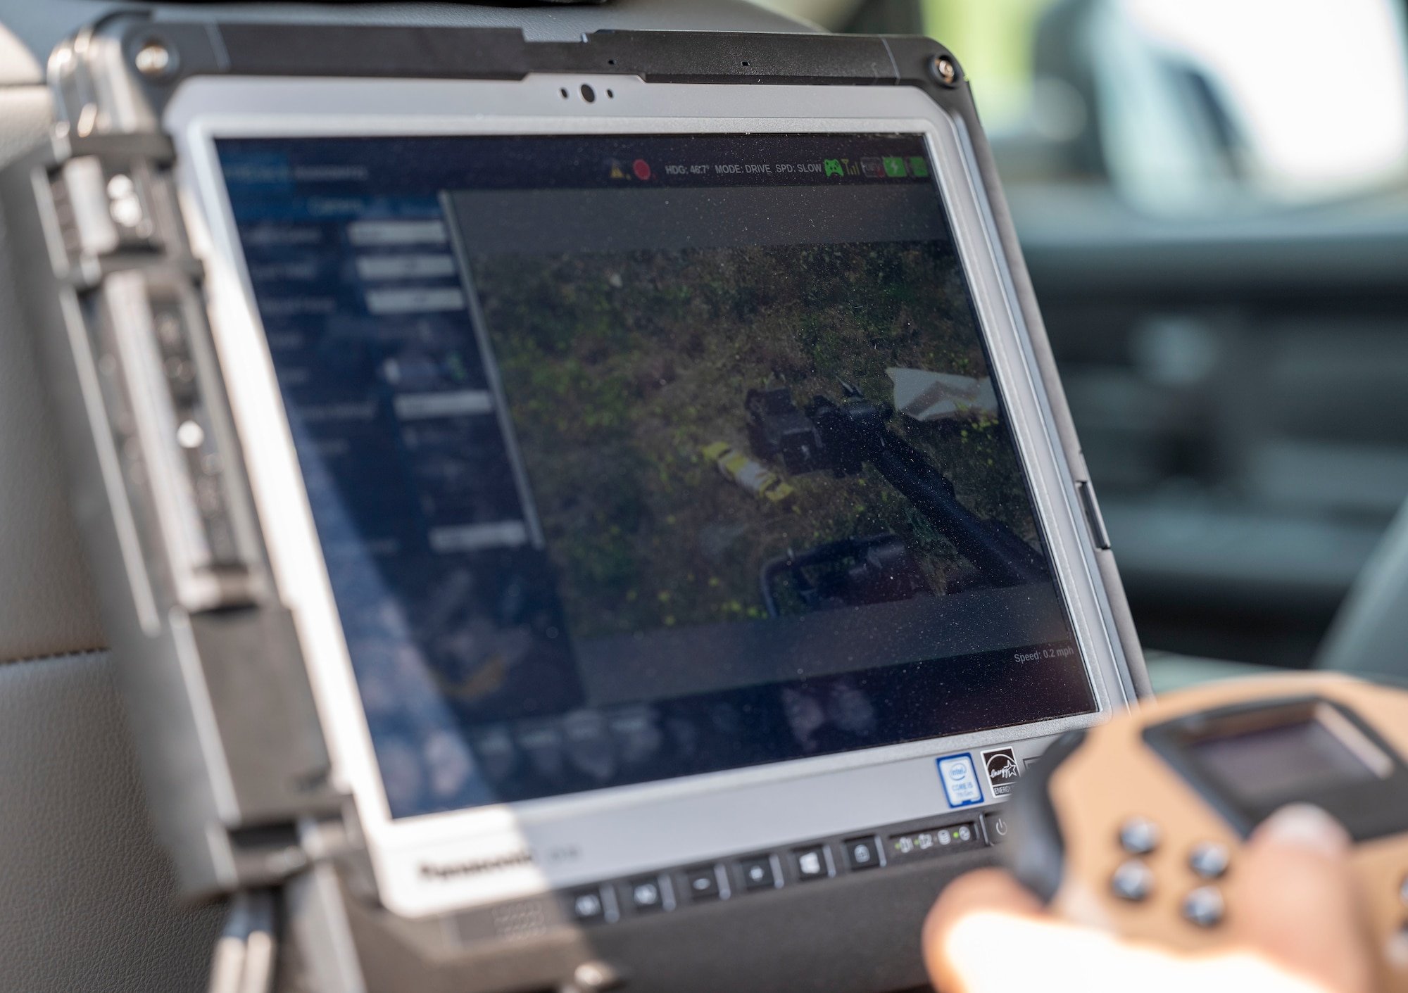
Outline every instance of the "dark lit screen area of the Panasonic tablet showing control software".
[[218, 152], [394, 817], [1095, 707], [921, 138]]

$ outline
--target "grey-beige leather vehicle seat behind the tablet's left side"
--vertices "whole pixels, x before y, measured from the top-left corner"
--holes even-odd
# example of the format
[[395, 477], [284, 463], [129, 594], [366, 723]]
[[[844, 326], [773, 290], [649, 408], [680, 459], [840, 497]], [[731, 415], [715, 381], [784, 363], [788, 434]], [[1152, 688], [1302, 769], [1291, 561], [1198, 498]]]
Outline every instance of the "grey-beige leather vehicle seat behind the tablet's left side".
[[[41, 63], [66, 34], [132, 4], [0, 6], [0, 166], [45, 139]], [[596, 7], [166, 4], [156, 17], [521, 25], [583, 31], [807, 31], [742, 0]], [[7, 30], [8, 28], [8, 30]], [[206, 989], [222, 907], [184, 907], [146, 814], [121, 698], [0, 218], [0, 990]]]

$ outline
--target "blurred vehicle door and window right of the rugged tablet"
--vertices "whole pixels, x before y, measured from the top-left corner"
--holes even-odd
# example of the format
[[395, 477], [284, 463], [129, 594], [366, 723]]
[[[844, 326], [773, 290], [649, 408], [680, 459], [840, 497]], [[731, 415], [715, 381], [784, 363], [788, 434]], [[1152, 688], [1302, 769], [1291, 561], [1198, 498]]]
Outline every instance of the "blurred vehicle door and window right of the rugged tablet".
[[776, 3], [963, 59], [1156, 685], [1309, 665], [1408, 496], [1404, 7]]

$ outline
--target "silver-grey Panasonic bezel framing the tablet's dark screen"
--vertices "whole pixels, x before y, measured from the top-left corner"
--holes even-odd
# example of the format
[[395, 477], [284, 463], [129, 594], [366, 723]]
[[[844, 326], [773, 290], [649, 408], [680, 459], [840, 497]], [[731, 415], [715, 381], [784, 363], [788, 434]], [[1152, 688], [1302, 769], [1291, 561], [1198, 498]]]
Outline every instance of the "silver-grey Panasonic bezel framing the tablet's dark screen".
[[[565, 103], [583, 84], [610, 101]], [[943, 813], [934, 758], [1107, 719], [1133, 686], [1083, 508], [963, 122], [910, 87], [715, 86], [531, 75], [521, 82], [197, 77], [163, 118], [275, 582], [293, 610], [335, 776], [356, 799], [383, 903], [424, 916], [824, 831]], [[342, 640], [215, 152], [218, 138], [413, 135], [922, 135], [1012, 422], [1095, 710], [1019, 727], [393, 820]], [[251, 439], [259, 439], [258, 444]], [[991, 797], [987, 797], [988, 800]], [[466, 866], [465, 872], [441, 872]]]

